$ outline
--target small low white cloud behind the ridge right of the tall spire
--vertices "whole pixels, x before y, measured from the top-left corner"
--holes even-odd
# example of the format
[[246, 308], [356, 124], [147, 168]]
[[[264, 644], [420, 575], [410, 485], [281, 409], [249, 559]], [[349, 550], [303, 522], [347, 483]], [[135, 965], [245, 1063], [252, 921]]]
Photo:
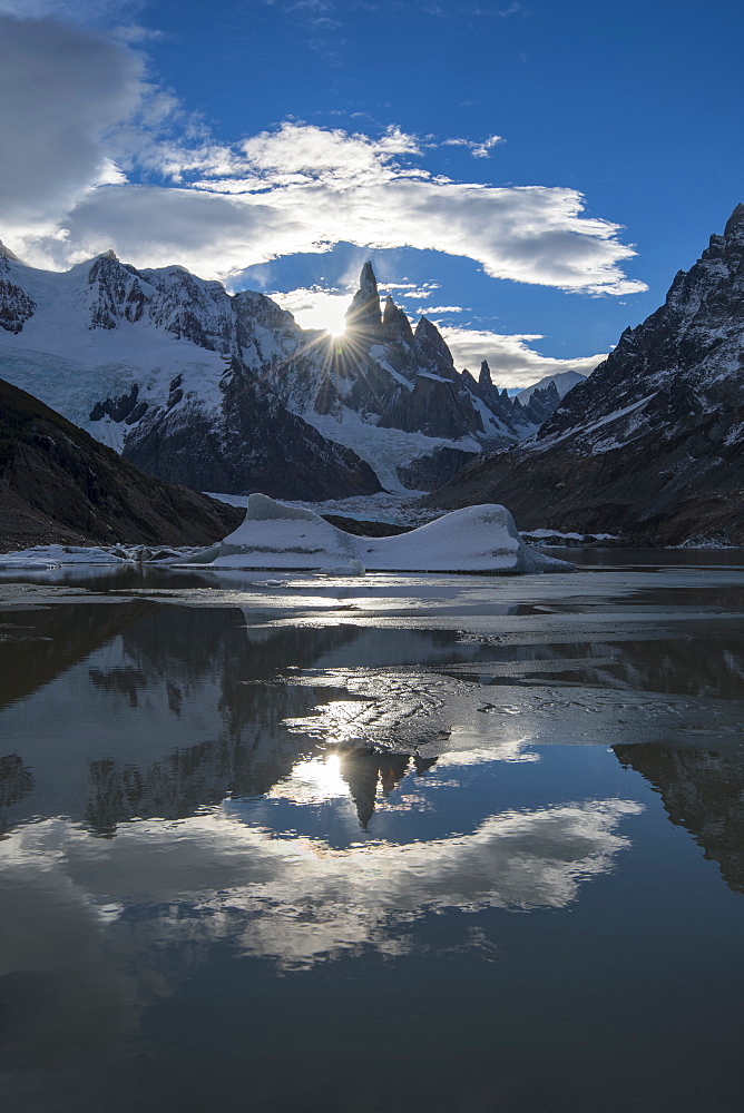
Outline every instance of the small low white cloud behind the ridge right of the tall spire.
[[544, 337], [537, 334], [505, 335], [487, 329], [439, 326], [454, 357], [457, 367], [468, 367], [478, 377], [481, 361], [488, 359], [491, 378], [498, 386], [531, 386], [548, 375], [577, 371], [588, 375], [606, 354], [556, 359], [540, 355], [532, 344]]

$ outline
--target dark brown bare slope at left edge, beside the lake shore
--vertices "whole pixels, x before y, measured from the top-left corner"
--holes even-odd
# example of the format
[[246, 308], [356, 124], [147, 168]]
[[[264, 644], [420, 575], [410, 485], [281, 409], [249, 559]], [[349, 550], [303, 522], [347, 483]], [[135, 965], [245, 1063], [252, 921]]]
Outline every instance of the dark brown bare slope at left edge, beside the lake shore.
[[211, 544], [243, 516], [145, 475], [0, 380], [0, 552], [50, 542]]

